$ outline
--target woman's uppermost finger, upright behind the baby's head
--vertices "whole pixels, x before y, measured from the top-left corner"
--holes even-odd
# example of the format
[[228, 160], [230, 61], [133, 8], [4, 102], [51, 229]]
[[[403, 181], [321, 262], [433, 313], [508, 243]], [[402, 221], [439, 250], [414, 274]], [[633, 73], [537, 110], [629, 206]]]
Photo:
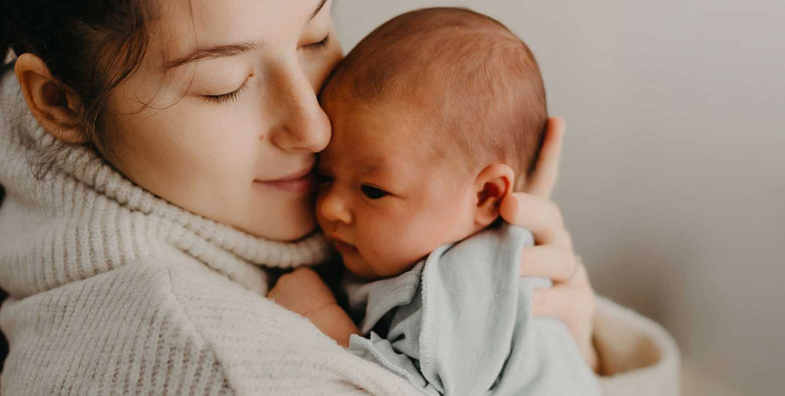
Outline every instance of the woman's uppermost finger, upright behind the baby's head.
[[548, 118], [545, 138], [535, 167], [526, 183], [524, 191], [543, 198], [549, 198], [559, 176], [561, 147], [567, 122], [561, 117]]

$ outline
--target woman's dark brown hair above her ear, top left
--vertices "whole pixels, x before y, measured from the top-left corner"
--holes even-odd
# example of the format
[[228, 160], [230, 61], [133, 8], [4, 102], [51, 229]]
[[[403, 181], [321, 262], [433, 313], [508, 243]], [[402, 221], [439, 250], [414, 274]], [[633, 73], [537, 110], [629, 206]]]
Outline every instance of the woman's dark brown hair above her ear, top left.
[[108, 98], [141, 64], [150, 20], [146, 0], [2, 0], [0, 63], [9, 50], [40, 57], [79, 98], [79, 127], [108, 156], [109, 136], [100, 132]]

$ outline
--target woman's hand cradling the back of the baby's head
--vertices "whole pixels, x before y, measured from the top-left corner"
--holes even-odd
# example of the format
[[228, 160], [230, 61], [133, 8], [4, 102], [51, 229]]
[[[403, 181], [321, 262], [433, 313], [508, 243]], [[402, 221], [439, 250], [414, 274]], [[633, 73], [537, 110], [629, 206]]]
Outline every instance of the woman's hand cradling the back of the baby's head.
[[564, 118], [548, 119], [535, 173], [525, 192], [504, 198], [500, 213], [507, 222], [528, 228], [535, 236], [535, 246], [524, 248], [520, 276], [553, 280], [553, 288], [535, 290], [534, 314], [566, 323], [583, 358], [597, 371], [599, 361], [592, 341], [594, 292], [586, 267], [572, 251], [572, 238], [560, 210], [550, 200], [559, 173], [564, 127]]

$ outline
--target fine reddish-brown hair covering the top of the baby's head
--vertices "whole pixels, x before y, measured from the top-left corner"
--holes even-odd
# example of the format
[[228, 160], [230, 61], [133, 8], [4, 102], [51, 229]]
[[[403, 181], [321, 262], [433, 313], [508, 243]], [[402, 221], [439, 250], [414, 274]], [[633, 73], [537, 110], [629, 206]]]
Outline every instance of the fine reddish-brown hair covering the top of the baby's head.
[[[534, 170], [547, 110], [534, 55], [503, 24], [469, 9], [396, 16], [335, 69], [323, 98], [409, 106], [441, 139], [436, 151], [470, 171], [505, 163], [515, 190]], [[425, 109], [425, 111], [422, 111]]]

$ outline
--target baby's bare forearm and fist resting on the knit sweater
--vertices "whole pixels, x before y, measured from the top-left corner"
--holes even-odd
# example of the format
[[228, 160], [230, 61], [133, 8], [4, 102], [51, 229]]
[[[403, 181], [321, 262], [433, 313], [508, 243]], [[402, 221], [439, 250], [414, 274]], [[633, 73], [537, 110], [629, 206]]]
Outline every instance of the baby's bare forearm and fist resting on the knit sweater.
[[288, 310], [309, 318], [319, 330], [344, 347], [349, 347], [352, 334], [360, 334], [349, 314], [338, 306], [330, 288], [311, 268], [301, 267], [284, 274], [267, 296]]

